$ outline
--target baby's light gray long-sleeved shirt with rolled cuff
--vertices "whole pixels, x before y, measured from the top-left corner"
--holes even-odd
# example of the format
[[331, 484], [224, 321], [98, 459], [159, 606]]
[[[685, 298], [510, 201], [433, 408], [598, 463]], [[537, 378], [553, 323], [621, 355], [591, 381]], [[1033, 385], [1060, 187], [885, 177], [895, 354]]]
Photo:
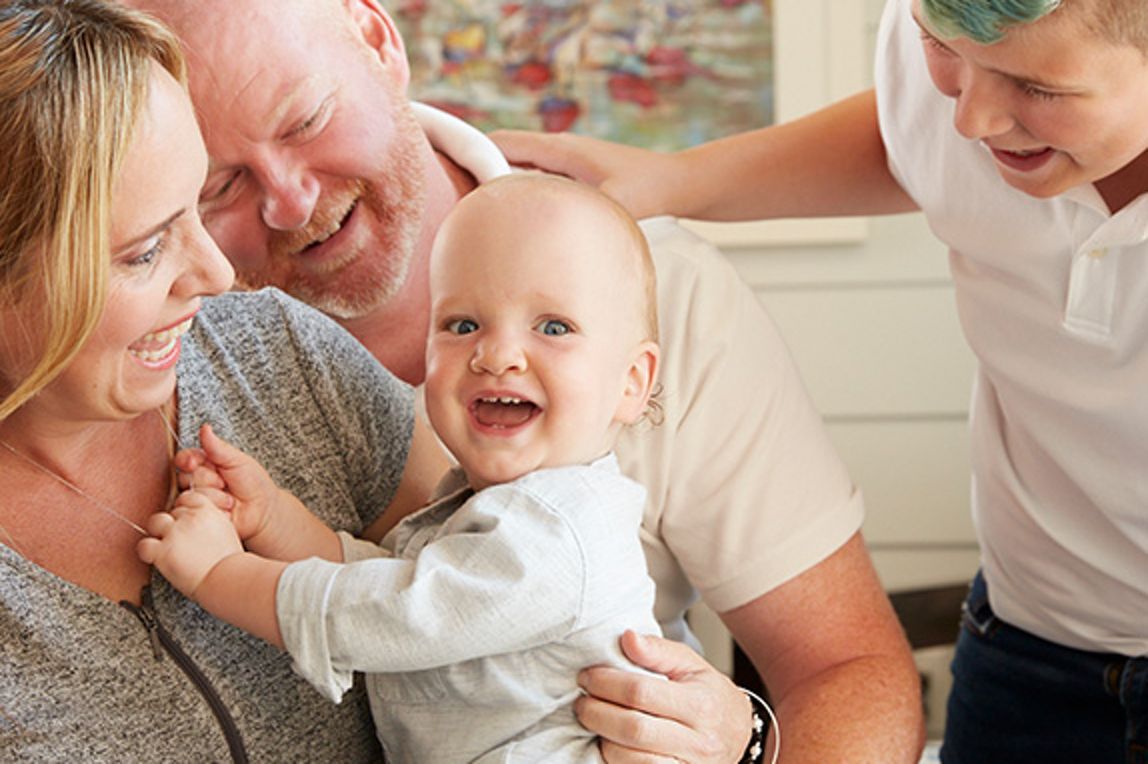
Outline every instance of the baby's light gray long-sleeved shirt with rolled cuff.
[[367, 672], [395, 762], [599, 761], [577, 672], [634, 670], [618, 639], [660, 633], [638, 540], [645, 490], [614, 457], [447, 493], [343, 564], [289, 566], [279, 625], [296, 670], [338, 700]]

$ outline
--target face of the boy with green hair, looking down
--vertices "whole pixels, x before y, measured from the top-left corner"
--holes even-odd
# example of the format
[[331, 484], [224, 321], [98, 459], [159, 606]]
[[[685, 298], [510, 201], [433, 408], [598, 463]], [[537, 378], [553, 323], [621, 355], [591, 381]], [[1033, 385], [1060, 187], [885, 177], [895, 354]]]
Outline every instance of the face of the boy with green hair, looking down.
[[934, 36], [913, 3], [933, 84], [956, 101], [957, 132], [984, 145], [1004, 182], [1041, 198], [1119, 180], [1148, 150], [1148, 57], [1100, 39], [1069, 10], [978, 45]]

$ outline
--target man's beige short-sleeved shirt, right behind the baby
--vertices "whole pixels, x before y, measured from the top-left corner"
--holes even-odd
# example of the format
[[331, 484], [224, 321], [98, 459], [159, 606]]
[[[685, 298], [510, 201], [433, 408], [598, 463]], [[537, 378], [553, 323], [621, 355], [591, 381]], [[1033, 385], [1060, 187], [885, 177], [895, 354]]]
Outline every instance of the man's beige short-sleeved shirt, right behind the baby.
[[722, 613], [796, 577], [861, 527], [861, 493], [830, 445], [789, 349], [708, 242], [644, 220], [658, 271], [664, 421], [622, 435], [646, 486], [642, 541], [656, 616], [685, 638], [700, 593]]

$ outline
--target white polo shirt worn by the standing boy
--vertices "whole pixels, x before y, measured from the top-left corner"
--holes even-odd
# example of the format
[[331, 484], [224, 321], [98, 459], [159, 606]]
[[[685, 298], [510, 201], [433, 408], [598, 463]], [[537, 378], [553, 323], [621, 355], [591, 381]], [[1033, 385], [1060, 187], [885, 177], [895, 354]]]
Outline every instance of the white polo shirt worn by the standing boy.
[[1038, 200], [953, 127], [909, 0], [877, 98], [890, 166], [948, 247], [979, 368], [974, 520], [993, 609], [1081, 649], [1148, 654], [1148, 196]]

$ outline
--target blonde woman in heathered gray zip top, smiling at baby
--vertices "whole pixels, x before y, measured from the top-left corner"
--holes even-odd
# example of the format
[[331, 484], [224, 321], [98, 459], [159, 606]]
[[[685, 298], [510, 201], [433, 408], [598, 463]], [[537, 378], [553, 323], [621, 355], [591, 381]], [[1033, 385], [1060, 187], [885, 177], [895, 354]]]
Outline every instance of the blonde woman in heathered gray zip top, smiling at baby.
[[360, 696], [328, 703], [135, 554], [202, 422], [367, 535], [443, 466], [410, 390], [335, 325], [274, 291], [216, 297], [233, 273], [196, 212], [181, 81], [144, 16], [0, 7], [0, 749], [377, 758]]

